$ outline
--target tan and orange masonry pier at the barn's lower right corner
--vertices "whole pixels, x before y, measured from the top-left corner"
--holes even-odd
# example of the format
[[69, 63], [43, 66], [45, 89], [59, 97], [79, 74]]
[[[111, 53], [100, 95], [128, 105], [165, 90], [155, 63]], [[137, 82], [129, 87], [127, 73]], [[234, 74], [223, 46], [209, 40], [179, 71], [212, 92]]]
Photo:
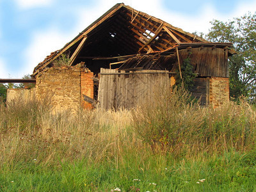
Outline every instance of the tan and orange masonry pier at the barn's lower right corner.
[[221, 106], [229, 100], [229, 81], [224, 77], [211, 77], [209, 102], [213, 108]]

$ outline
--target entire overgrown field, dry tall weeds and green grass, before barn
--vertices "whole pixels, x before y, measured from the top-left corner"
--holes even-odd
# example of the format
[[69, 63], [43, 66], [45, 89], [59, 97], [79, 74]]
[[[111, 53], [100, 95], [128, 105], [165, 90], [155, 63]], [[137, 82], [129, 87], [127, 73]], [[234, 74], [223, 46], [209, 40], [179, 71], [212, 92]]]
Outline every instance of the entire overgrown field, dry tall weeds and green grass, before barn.
[[256, 191], [256, 111], [191, 104], [52, 115], [0, 106], [0, 191]]

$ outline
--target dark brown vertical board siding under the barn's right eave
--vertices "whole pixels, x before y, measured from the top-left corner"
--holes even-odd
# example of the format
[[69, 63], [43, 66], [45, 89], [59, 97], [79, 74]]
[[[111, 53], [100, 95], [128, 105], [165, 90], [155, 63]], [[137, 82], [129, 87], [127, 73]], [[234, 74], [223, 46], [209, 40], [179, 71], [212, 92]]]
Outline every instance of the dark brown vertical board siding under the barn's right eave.
[[[226, 49], [199, 47], [179, 51], [180, 63], [190, 58], [195, 73], [205, 77], [228, 77]], [[178, 63], [173, 65], [171, 72], [175, 72]]]

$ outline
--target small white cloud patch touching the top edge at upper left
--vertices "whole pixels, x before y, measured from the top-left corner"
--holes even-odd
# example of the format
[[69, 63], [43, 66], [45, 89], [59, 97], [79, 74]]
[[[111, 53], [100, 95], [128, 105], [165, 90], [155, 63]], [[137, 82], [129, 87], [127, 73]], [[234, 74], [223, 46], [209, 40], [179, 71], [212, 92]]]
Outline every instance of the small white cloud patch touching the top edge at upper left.
[[49, 6], [54, 0], [15, 0], [21, 9], [33, 8], [36, 6]]

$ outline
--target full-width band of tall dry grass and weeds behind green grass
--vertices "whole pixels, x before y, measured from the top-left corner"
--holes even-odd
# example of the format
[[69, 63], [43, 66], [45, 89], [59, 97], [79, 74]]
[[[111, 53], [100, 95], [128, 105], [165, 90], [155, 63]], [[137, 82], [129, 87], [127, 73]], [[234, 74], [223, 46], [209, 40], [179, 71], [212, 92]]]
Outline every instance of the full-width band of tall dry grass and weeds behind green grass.
[[[189, 93], [175, 90], [133, 111], [80, 110], [52, 114], [36, 100], [0, 106], [0, 164], [35, 162], [61, 166], [140, 161], [156, 153], [195, 157], [255, 146], [256, 112], [246, 102], [220, 108], [191, 104]], [[36, 160], [34, 160], [36, 159]]]

